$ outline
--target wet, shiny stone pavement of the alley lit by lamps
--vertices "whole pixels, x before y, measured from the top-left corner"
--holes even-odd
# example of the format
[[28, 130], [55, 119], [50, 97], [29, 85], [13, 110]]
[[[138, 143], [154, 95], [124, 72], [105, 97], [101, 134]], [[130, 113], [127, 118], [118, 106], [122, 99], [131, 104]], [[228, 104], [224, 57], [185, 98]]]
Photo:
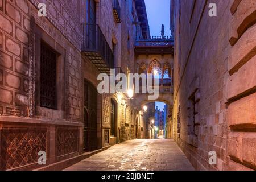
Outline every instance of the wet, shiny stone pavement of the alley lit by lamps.
[[184, 171], [194, 168], [174, 140], [136, 139], [116, 144], [65, 170]]

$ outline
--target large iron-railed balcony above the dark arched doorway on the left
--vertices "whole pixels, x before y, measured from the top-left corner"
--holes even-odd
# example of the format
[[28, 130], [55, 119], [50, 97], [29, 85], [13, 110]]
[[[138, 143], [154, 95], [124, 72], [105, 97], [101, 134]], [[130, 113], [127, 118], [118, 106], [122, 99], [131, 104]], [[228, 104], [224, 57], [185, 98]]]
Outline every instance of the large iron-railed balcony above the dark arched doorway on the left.
[[87, 57], [101, 73], [110, 74], [114, 68], [114, 54], [97, 24], [82, 24], [82, 55]]

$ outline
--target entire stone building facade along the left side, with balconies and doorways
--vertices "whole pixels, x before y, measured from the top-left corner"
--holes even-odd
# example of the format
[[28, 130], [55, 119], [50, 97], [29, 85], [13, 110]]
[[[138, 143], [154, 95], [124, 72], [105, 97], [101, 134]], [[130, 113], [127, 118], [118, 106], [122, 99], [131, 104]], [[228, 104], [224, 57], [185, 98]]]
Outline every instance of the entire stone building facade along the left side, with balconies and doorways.
[[[1, 170], [61, 169], [88, 151], [136, 138], [141, 108], [126, 94], [98, 94], [97, 76], [102, 67], [134, 72], [135, 39], [149, 34], [147, 24], [136, 23], [137, 3], [0, 1]], [[88, 55], [96, 34], [111, 64]], [[46, 166], [38, 164], [39, 151]]]

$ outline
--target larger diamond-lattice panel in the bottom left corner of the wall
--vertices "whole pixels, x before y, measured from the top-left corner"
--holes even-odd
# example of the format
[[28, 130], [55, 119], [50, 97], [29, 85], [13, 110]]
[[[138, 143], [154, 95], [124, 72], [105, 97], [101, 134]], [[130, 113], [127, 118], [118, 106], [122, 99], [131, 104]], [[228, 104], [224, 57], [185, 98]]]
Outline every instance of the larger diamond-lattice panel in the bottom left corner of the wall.
[[46, 129], [0, 130], [0, 170], [38, 162], [38, 152], [47, 152]]

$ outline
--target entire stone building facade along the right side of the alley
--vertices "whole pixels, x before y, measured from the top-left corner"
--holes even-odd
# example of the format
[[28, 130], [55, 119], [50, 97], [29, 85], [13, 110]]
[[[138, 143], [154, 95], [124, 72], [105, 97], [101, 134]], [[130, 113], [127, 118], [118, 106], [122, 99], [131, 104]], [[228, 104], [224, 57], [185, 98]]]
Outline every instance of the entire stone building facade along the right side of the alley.
[[[209, 16], [216, 3], [217, 16]], [[171, 1], [175, 7], [170, 133], [196, 169], [256, 169], [256, 2]], [[217, 164], [208, 162], [209, 152]]]

